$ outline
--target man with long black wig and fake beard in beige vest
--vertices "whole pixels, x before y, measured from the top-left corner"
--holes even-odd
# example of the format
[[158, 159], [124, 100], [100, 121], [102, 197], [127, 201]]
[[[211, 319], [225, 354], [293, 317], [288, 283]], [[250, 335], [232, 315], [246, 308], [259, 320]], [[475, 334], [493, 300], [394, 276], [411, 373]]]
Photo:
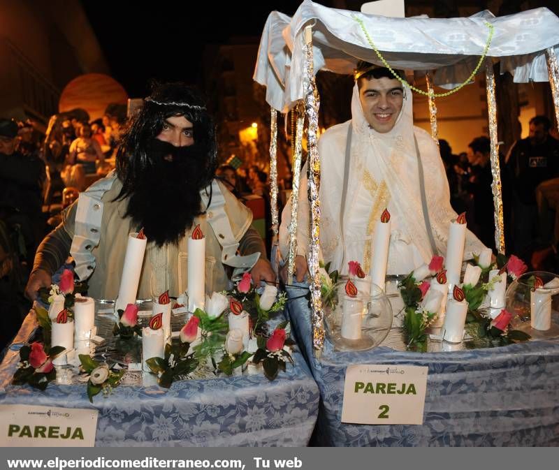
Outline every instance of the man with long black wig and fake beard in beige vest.
[[29, 298], [50, 286], [68, 254], [90, 296], [116, 298], [129, 233], [142, 228], [147, 247], [137, 298], [187, 290], [187, 240], [198, 225], [205, 235], [206, 292], [228, 288], [233, 268], [233, 274], [250, 270], [257, 286], [275, 281], [252, 212], [214, 178], [215, 128], [198, 91], [156, 85], [124, 133], [116, 161], [115, 172], [81, 193], [43, 240]]

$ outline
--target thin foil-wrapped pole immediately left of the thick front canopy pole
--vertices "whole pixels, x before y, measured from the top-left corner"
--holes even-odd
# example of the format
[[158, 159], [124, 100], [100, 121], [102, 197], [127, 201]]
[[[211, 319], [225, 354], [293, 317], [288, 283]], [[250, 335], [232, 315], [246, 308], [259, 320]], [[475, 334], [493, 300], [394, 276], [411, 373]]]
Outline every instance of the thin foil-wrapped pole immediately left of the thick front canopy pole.
[[[291, 223], [289, 224], [289, 264], [287, 265], [287, 283], [293, 284], [295, 272], [295, 257], [297, 256], [297, 221], [299, 207], [299, 179], [301, 173], [301, 158], [303, 156], [303, 125], [305, 124], [305, 106], [301, 103], [293, 108], [297, 115], [295, 146], [293, 153], [293, 191], [291, 192]], [[303, 194], [304, 198], [308, 196]]]

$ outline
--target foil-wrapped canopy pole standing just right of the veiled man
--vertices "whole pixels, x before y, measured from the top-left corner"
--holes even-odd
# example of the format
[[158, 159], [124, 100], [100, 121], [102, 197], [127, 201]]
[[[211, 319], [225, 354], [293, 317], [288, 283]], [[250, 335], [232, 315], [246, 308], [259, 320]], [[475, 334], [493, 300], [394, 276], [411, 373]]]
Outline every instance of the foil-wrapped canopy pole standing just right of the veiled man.
[[495, 247], [504, 254], [504, 223], [502, 212], [501, 168], [499, 162], [499, 142], [497, 136], [497, 102], [495, 101], [495, 73], [493, 61], [486, 59], [487, 113], [489, 118], [489, 138], [491, 139], [491, 174], [493, 183], [493, 206], [495, 207]]

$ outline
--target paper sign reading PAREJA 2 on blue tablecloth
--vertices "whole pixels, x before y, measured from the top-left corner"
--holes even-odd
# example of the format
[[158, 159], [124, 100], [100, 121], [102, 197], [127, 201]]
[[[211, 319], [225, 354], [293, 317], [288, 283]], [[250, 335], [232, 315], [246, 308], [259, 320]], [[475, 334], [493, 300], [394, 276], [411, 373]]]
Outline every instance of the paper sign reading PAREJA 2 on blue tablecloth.
[[349, 365], [342, 423], [421, 425], [428, 367]]

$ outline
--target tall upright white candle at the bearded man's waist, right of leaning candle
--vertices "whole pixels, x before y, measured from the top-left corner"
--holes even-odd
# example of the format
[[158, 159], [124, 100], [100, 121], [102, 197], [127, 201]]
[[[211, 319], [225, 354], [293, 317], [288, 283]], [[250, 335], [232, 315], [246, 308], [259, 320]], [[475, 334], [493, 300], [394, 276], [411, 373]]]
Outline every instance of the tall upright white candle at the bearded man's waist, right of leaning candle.
[[203, 309], [205, 302], [205, 237], [197, 225], [188, 237], [188, 309]]

